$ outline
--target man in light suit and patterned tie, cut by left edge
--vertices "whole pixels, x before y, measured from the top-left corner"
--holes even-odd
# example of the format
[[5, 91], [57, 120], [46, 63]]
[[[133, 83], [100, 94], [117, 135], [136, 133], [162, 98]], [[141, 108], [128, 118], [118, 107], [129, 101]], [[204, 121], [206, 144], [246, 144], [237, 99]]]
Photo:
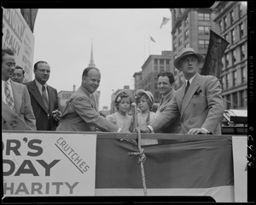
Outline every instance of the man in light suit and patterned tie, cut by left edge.
[[[32, 111], [30, 96], [25, 85], [15, 83], [11, 80], [10, 77], [13, 76], [14, 71], [14, 52], [10, 49], [2, 49], [2, 105], [4, 105], [2, 109], [5, 109], [2, 110], [2, 122], [6, 122], [8, 118], [10, 126], [13, 126], [14, 128], [10, 128], [9, 126], [3, 127], [7, 129], [17, 129], [15, 128], [15, 126], [17, 126], [22, 130], [36, 130], [36, 118]], [[4, 115], [6, 119], [3, 119]], [[16, 117], [16, 115], [19, 117]], [[26, 123], [24, 126], [22, 126], [24, 123], [22, 121]], [[21, 126], [19, 126], [17, 123], [20, 123]], [[29, 128], [27, 128], [27, 126]]]

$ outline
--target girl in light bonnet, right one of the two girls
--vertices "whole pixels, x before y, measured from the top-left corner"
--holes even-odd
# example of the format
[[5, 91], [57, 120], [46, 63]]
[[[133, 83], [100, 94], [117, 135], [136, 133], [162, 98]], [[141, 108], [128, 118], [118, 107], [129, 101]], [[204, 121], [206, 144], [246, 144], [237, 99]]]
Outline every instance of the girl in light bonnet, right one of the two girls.
[[[137, 127], [147, 126], [149, 122], [153, 121], [157, 115], [152, 111], [152, 106], [154, 104], [154, 96], [149, 91], [143, 89], [138, 89], [135, 93], [137, 105], [142, 111], [137, 114]], [[155, 145], [158, 144], [157, 140], [143, 139], [142, 145]]]

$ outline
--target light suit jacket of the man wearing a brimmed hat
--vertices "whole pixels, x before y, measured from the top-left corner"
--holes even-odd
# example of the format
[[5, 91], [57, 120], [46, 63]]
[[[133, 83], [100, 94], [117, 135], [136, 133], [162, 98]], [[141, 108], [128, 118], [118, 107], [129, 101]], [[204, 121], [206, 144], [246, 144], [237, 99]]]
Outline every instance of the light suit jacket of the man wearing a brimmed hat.
[[212, 134], [221, 134], [224, 100], [218, 78], [196, 73], [185, 96], [184, 91], [185, 84], [177, 90], [166, 111], [150, 124], [154, 130], [172, 124], [180, 115], [183, 134], [188, 133], [190, 128], [207, 128]]

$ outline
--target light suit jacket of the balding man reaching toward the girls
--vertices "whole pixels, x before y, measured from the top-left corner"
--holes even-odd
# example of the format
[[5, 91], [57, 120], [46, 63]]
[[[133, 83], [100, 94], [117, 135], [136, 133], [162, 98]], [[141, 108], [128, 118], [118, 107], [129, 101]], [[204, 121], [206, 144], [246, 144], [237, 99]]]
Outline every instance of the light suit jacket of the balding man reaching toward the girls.
[[95, 94], [90, 98], [88, 91], [80, 86], [67, 101], [56, 130], [95, 132], [96, 128], [107, 132], [116, 132], [119, 129], [99, 114]]

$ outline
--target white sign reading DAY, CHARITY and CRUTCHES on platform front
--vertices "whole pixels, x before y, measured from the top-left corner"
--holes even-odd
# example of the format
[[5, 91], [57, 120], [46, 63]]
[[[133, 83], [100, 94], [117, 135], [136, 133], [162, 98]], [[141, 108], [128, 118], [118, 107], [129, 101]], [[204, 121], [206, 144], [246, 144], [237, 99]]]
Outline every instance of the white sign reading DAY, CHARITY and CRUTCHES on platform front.
[[3, 196], [94, 196], [96, 134], [3, 133]]

